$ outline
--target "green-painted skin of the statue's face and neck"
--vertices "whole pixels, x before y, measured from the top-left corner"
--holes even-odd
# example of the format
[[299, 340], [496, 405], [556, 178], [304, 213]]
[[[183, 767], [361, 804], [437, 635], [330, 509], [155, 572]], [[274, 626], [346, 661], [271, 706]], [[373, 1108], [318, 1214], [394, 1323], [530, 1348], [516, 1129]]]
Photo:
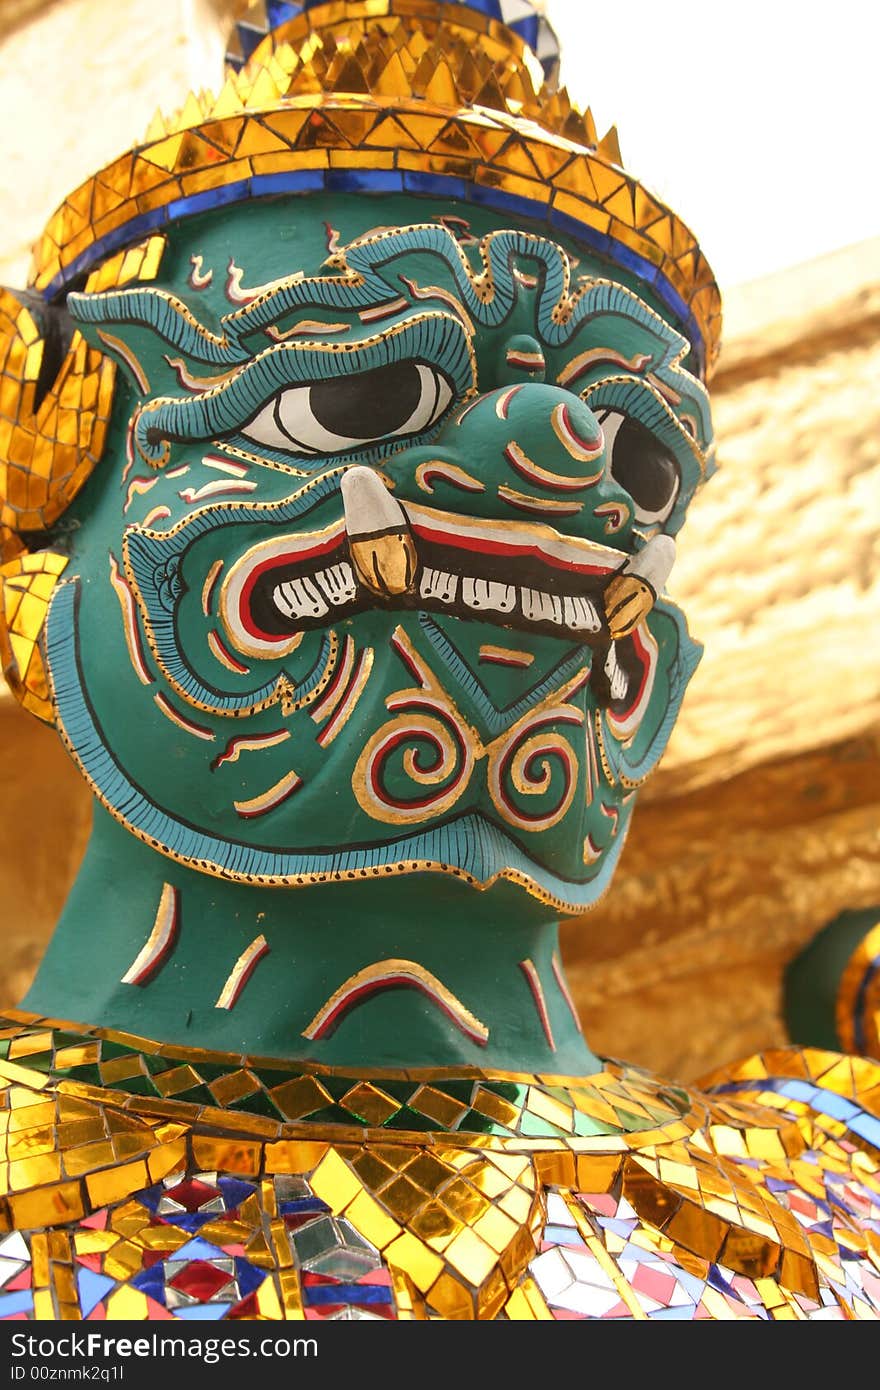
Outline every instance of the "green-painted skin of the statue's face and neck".
[[[384, 279], [384, 317], [381, 296], [378, 309], [375, 300], [364, 309], [355, 291], [334, 288], [334, 304], [320, 303], [325, 291], [311, 291], [309, 303], [309, 293], [288, 289], [285, 311], [260, 320], [260, 286], [298, 271], [341, 282], [339, 257], [324, 264], [325, 222], [345, 247], [370, 240], [380, 211], [389, 227], [425, 218], [423, 202], [405, 199], [382, 199], [381, 210], [342, 196], [238, 207], [175, 227], [154, 285], [72, 300], [86, 335], [107, 346], [101, 331], [122, 343], [114, 350], [128, 367], [118, 374], [106, 457], [53, 537], [71, 563], [46, 653], [68, 746], [111, 815], [96, 810], [86, 860], [25, 1005], [165, 1041], [349, 1066], [466, 1062], [582, 1073], [595, 1059], [553, 970], [555, 923], [605, 890], [635, 784], [663, 751], [698, 659], [681, 614], [658, 603], [641, 648], [627, 648], [635, 663], [627, 696], [609, 710], [596, 669], [606, 632], [589, 642], [567, 630], [557, 637], [549, 621], [524, 617], [524, 606], [510, 620], [500, 610], [466, 613], [460, 603], [449, 612], [425, 603], [423, 612], [410, 591], [367, 595], [352, 610], [329, 605], [296, 642], [270, 632], [260, 651], [247, 651], [253, 638], [235, 616], [231, 575], [236, 566], [250, 573], [260, 546], [299, 553], [306, 535], [341, 535], [339, 477], [360, 464], [380, 471], [398, 509], [443, 514], [442, 555], [450, 527], [488, 525], [492, 577], [521, 592], [530, 546], [612, 546], [605, 577], [591, 581], [601, 588], [652, 528], [639, 525], [633, 496], [612, 474], [610, 446], [589, 455], [596, 416], [639, 421], [674, 460], [678, 491], [658, 527], [674, 532], [710, 443], [706, 396], [680, 368], [684, 341], [631, 293], [626, 275], [617, 288], [606, 284], [606, 265], [580, 257], [577, 274], [598, 284], [581, 286], [592, 296], [589, 313], [563, 332], [548, 311], [562, 253], [546, 242], [520, 238], [506, 268], [496, 267], [495, 306], [502, 291], [510, 299], [498, 321], [478, 296], [460, 309], [475, 292], [463, 285], [452, 239], [437, 249], [437, 225], [430, 235], [416, 228], [410, 249], [366, 275], [366, 284]], [[464, 211], [477, 236], [509, 225]], [[193, 257], [202, 274], [213, 272], [204, 289], [189, 284]], [[534, 284], [512, 274], [514, 261], [538, 272]], [[257, 296], [253, 304], [227, 297], [231, 264]], [[275, 285], [272, 303], [277, 293]], [[407, 303], [395, 307], [400, 295]], [[584, 359], [569, 389], [555, 384], [595, 349], [605, 357]], [[538, 352], [541, 368], [517, 366], [517, 354]], [[364, 374], [374, 374], [366, 385]], [[318, 382], [332, 389], [317, 392]], [[520, 389], [507, 399], [510, 386]], [[407, 416], [405, 398], [418, 391], [425, 399]], [[267, 442], [272, 402], [277, 418], [299, 421], [299, 445], [278, 434]], [[384, 430], [368, 436], [355, 416], [366, 420], [371, 409]], [[587, 460], [566, 445], [560, 418]], [[355, 421], [348, 442], [346, 420]], [[332, 448], [329, 425], [339, 441]], [[506, 453], [512, 439], [527, 464], [562, 486], [517, 473]], [[425, 488], [428, 466], [442, 468]], [[457, 475], [478, 491], [462, 488]], [[537, 498], [538, 509], [524, 510], [510, 492]], [[427, 542], [417, 535], [417, 543]], [[334, 559], [348, 563], [348, 550]], [[567, 592], [567, 562], [538, 563], [538, 580], [552, 573]], [[128, 639], [140, 649], [133, 662], [122, 623], [128, 602], [136, 612]], [[242, 612], [253, 616], [247, 603]], [[488, 648], [509, 649], [520, 664], [499, 664]], [[355, 699], [357, 674], [364, 681]], [[324, 705], [336, 680], [352, 713], [334, 733], [348, 699]], [[398, 738], [400, 720], [406, 737]], [[263, 809], [260, 798], [293, 771], [296, 790]], [[179, 894], [174, 949], [149, 983], [124, 984], [163, 884]], [[268, 955], [235, 1008], [218, 1009], [236, 958], [259, 935]], [[328, 1037], [303, 1037], [345, 980], [386, 959], [416, 962], [439, 980], [488, 1027], [487, 1045], [409, 987], [353, 1005]], [[556, 1051], [520, 966], [527, 959]]]

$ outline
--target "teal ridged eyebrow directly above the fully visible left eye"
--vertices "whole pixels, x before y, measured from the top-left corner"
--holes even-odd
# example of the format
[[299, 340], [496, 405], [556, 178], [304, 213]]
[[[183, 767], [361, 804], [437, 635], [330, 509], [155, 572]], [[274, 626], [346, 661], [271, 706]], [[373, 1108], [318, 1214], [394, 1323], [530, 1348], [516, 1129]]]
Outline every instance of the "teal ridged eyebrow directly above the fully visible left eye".
[[[291, 386], [400, 361], [424, 361], [443, 373], [453, 385], [449, 409], [475, 384], [473, 346], [463, 324], [453, 314], [427, 310], [360, 342], [284, 342], [266, 348], [209, 391], [147, 402], [135, 423], [135, 442], [149, 463], [161, 464], [171, 442], [238, 439], [243, 425]], [[431, 432], [435, 427], [437, 421]], [[381, 441], [375, 443], [381, 446]]]

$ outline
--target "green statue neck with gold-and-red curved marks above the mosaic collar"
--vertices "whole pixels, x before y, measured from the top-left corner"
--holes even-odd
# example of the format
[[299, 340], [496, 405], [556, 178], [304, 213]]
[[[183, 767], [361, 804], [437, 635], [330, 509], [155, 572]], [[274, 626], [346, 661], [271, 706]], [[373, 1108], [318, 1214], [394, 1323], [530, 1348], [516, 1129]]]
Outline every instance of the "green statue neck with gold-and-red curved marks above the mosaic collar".
[[[445, 874], [292, 890], [227, 883], [174, 863], [96, 808], [22, 1006], [353, 1072], [464, 1065], [582, 1076], [599, 1063], [567, 1002], [545, 910], [513, 885], [477, 892]], [[124, 983], [132, 974], [140, 983]]]

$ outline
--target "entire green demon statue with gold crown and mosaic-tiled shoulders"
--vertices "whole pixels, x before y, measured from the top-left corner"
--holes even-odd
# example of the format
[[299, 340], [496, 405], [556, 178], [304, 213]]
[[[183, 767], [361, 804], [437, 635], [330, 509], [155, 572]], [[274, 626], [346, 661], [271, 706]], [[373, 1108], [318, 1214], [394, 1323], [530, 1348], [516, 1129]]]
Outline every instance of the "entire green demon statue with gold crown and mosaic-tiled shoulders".
[[676, 1087], [559, 959], [699, 657], [712, 274], [525, 0], [236, 43], [0, 299], [0, 651], [96, 798], [0, 1316], [873, 1316], [877, 1068]]

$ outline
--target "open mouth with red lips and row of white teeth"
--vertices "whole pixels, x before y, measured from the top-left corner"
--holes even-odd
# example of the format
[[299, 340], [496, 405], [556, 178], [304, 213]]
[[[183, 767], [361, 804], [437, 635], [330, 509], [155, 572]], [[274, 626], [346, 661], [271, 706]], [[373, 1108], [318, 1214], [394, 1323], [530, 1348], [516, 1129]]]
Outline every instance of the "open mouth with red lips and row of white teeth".
[[377, 606], [495, 619], [608, 645], [603, 591], [624, 553], [537, 524], [393, 506], [391, 524], [370, 534], [353, 531], [346, 516], [247, 552], [221, 596], [235, 645], [279, 656], [300, 632]]

